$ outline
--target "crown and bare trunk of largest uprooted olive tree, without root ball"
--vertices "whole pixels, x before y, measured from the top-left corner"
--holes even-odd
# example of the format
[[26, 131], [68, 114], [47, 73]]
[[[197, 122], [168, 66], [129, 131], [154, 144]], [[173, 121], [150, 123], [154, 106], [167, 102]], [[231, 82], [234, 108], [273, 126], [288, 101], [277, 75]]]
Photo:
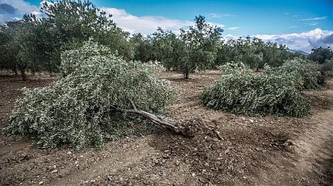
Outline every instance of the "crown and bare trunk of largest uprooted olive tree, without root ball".
[[126, 62], [93, 42], [61, 58], [61, 78], [48, 87], [25, 89], [6, 133], [33, 137], [43, 148], [80, 149], [134, 133], [147, 119], [173, 127], [154, 115], [163, 113], [175, 94], [169, 81], [155, 77], [154, 65]]

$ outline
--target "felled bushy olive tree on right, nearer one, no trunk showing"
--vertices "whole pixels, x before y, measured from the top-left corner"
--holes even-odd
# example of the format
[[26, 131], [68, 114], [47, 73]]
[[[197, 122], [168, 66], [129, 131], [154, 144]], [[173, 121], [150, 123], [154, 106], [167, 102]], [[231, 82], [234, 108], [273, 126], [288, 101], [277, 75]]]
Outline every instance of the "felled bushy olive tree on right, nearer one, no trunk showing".
[[221, 77], [203, 92], [203, 103], [211, 108], [245, 115], [310, 114], [309, 103], [284, 76], [255, 74], [241, 65], [225, 65], [221, 71]]

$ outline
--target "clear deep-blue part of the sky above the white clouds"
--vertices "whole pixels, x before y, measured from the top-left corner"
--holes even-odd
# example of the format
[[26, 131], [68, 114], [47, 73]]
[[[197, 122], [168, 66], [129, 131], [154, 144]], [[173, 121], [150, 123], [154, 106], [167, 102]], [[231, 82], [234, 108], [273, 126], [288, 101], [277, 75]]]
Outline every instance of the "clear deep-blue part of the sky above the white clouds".
[[[333, 30], [333, 1], [328, 0], [93, 2], [97, 6], [124, 9], [137, 16], [155, 15], [169, 19], [191, 20], [195, 15], [201, 14], [205, 15], [207, 21], [223, 24], [226, 27], [240, 27], [234, 31], [225, 30], [225, 33], [234, 35], [304, 32], [318, 27]], [[316, 17], [325, 18], [310, 20]]]

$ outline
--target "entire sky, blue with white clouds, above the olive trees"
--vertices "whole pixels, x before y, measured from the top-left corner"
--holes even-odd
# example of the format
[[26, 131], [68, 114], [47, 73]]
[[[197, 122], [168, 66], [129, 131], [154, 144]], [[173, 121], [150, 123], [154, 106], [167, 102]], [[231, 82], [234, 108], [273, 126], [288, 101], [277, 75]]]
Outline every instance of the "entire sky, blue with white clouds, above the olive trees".
[[[221, 26], [225, 37], [251, 35], [303, 51], [311, 47], [333, 47], [332, 0], [92, 2], [114, 15], [114, 21], [130, 33], [153, 33], [157, 26], [177, 32], [200, 14], [207, 22]], [[17, 11], [6, 12], [8, 6], [1, 6], [4, 3]], [[24, 6], [19, 7], [20, 4]], [[0, 22], [36, 11], [39, 5], [39, 0], [0, 0]]]

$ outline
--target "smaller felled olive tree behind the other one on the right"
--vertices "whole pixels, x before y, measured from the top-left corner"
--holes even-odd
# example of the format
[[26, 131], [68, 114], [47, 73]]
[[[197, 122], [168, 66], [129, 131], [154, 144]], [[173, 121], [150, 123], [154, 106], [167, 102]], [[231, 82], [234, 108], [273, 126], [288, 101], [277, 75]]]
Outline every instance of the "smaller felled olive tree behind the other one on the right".
[[302, 58], [286, 60], [280, 67], [266, 67], [264, 73], [289, 78], [300, 90], [318, 90], [325, 85], [321, 66], [314, 61]]

